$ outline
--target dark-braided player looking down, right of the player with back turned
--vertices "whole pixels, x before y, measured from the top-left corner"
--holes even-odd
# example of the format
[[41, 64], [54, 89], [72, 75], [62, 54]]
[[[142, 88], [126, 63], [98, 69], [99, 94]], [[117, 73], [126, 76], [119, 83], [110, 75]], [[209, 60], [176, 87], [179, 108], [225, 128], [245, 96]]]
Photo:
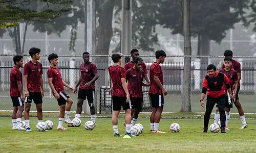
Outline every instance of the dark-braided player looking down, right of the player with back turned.
[[145, 76], [145, 72], [141, 69], [143, 64], [142, 58], [137, 57], [134, 61], [134, 66], [126, 71], [126, 81], [128, 81], [132, 112], [134, 112], [134, 114], [132, 114], [132, 126], [136, 124], [139, 113], [142, 109], [142, 86], [150, 86], [150, 84], [143, 83]]

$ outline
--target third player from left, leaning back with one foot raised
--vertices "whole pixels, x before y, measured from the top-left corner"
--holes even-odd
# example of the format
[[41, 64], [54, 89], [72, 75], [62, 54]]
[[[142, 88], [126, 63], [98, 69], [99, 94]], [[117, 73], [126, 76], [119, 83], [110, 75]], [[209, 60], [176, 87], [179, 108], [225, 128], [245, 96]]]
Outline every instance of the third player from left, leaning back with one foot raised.
[[73, 100], [69, 97], [69, 95], [65, 93], [63, 86], [69, 88], [71, 92], [74, 92], [74, 89], [62, 80], [60, 70], [57, 67], [58, 55], [54, 53], [50, 54], [48, 57], [48, 61], [51, 63], [51, 66], [48, 68], [47, 71], [48, 83], [59, 105], [59, 124], [57, 130], [68, 130], [62, 126], [62, 123], [65, 115], [65, 122], [72, 124], [72, 121], [69, 118], [69, 112], [73, 104]]

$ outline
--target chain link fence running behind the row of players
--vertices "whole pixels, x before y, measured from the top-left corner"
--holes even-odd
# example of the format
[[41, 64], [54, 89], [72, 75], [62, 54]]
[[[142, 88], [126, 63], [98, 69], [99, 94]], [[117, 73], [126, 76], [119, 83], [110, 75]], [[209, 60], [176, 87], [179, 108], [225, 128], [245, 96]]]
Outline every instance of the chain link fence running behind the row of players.
[[[14, 65], [12, 61], [13, 56], [0, 56], [0, 110], [12, 110], [12, 101], [9, 96], [10, 92], [10, 69]], [[151, 63], [154, 62], [154, 56], [141, 56], [146, 63], [148, 72]], [[246, 113], [255, 113], [256, 105], [256, 57], [234, 57], [241, 63], [241, 89], [239, 97], [241, 104]], [[25, 63], [30, 60], [29, 56], [24, 56]], [[123, 62], [129, 62], [130, 56], [124, 56]], [[222, 56], [191, 56], [191, 110], [193, 112], [204, 112], [199, 104], [202, 79], [206, 75], [206, 67], [208, 64], [215, 64], [217, 69], [222, 68], [224, 57]], [[111, 114], [112, 103], [110, 89], [110, 77], [107, 68], [112, 64], [111, 57], [106, 56], [91, 56], [90, 61], [95, 63], [98, 68], [99, 79], [96, 81], [95, 91], [95, 106], [99, 114]], [[45, 97], [43, 98], [43, 111], [58, 111], [59, 107], [56, 99], [50, 91], [47, 81], [47, 69], [50, 66], [47, 56], [41, 56], [40, 62], [43, 65], [43, 78], [45, 87]], [[62, 78], [69, 85], [74, 87], [79, 79], [80, 71], [79, 66], [83, 62], [82, 56], [59, 56], [58, 66], [61, 70]], [[164, 97], [164, 110], [163, 112], [179, 112], [181, 109], [183, 91], [183, 65], [184, 56], [167, 56], [165, 62], [162, 64], [164, 73], [164, 87], [167, 89], [168, 94]], [[23, 68], [21, 69], [23, 72]], [[149, 87], [143, 87], [143, 112], [151, 112], [151, 101], [148, 96]], [[77, 95], [69, 93], [70, 97], [74, 100], [71, 111], [76, 111]], [[84, 103], [83, 111], [89, 109], [87, 103]], [[36, 110], [35, 106], [31, 108]], [[234, 107], [233, 113], [237, 112]]]

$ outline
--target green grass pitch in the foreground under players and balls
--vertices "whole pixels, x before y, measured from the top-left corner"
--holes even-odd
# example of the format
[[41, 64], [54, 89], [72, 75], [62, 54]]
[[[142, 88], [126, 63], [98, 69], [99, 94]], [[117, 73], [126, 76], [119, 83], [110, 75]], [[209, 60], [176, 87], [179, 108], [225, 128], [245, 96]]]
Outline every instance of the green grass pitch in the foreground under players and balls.
[[[11, 117], [0, 118], [1, 152], [255, 152], [256, 120], [247, 120], [248, 128], [240, 129], [241, 121], [231, 119], [230, 131], [202, 133], [203, 119], [161, 119], [160, 129], [166, 134], [150, 134], [148, 118], [139, 118], [144, 133], [131, 139], [113, 137], [111, 118], [96, 118], [93, 131], [83, 126], [57, 131], [58, 118], [44, 118], [54, 122], [54, 130], [37, 132], [37, 118], [32, 117], [32, 132], [11, 130]], [[82, 118], [82, 125], [90, 118]], [[177, 122], [180, 133], [170, 133], [169, 126]], [[213, 122], [211, 119], [210, 122]], [[123, 118], [119, 118], [119, 132], [124, 134]], [[65, 125], [66, 126], [66, 125]]]

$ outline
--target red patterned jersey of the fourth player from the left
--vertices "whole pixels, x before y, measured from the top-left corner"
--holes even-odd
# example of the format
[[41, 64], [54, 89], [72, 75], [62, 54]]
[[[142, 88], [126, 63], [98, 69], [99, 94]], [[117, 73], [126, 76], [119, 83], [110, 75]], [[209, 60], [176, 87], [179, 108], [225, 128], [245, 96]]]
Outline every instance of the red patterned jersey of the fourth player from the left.
[[83, 86], [86, 83], [90, 82], [95, 77], [95, 74], [98, 73], [96, 65], [93, 64], [92, 62], [89, 62], [87, 65], [85, 63], [82, 63], [80, 65], [80, 72], [81, 72], [82, 80], [81, 80], [81, 84], [80, 84], [79, 89], [94, 90], [95, 89], [95, 83], [94, 82], [91, 84], [91, 86], [89, 86], [87, 88], [84, 88]]

